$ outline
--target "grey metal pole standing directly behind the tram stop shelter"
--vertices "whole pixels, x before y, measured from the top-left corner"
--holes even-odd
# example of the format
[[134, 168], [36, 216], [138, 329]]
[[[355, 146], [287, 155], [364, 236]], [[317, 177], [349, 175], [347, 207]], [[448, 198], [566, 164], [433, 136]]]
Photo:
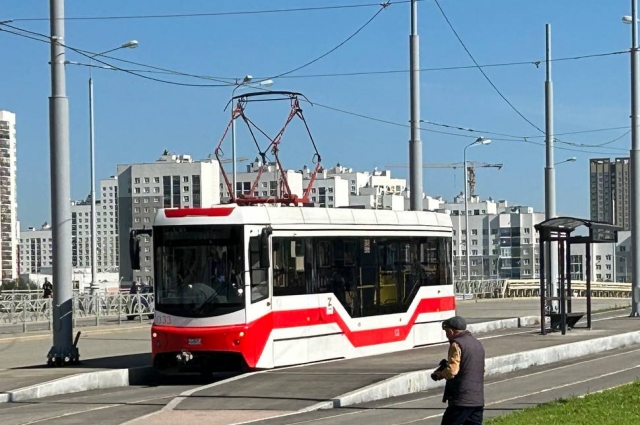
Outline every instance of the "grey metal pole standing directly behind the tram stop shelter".
[[[544, 83], [545, 94], [545, 136], [547, 145], [547, 166], [544, 171], [544, 213], [548, 220], [556, 216], [556, 170], [553, 152], [553, 82], [551, 81], [551, 25], [546, 25], [547, 30], [547, 56], [546, 68], [547, 79]], [[550, 242], [543, 253], [547, 257], [545, 274], [547, 275], [547, 288], [550, 289], [549, 296], [559, 297], [558, 291], [558, 243]], [[558, 300], [551, 301], [551, 310], [558, 311]]]

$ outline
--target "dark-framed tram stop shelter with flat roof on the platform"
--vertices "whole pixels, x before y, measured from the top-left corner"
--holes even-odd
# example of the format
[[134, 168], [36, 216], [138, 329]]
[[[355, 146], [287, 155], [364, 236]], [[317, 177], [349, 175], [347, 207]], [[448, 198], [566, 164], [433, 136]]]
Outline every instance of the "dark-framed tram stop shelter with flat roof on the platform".
[[[579, 227], [588, 229], [587, 236], [573, 235]], [[591, 329], [591, 245], [594, 243], [618, 242], [619, 226], [593, 220], [575, 217], [556, 217], [536, 224], [535, 229], [540, 235], [540, 331], [542, 335], [547, 333], [546, 318], [551, 321], [551, 331], [567, 332], [567, 327], [574, 325], [587, 316], [587, 329]], [[550, 251], [551, 243], [558, 243], [558, 288], [559, 294], [551, 291], [551, 280], [546, 276], [545, 254]], [[584, 273], [586, 280], [586, 310], [574, 312], [572, 307], [573, 293], [571, 291], [571, 247], [573, 245], [585, 245]], [[614, 253], [615, 254], [615, 253]], [[552, 311], [553, 301], [559, 301], [560, 310]]]

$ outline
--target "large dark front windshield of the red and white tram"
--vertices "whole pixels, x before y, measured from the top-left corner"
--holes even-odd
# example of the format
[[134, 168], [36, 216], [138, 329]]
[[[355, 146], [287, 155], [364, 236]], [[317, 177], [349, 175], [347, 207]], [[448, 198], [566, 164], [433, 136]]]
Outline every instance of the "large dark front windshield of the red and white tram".
[[154, 229], [156, 309], [181, 317], [211, 317], [244, 308], [240, 226]]

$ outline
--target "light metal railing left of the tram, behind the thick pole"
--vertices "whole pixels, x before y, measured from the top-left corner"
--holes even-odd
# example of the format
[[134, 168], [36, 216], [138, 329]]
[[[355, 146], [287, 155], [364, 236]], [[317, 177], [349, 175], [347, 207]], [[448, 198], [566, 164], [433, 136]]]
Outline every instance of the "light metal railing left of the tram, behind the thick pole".
[[[53, 322], [52, 301], [51, 298], [42, 298], [41, 292], [3, 292], [0, 294], [0, 332], [15, 332], [18, 327], [22, 332], [50, 330]], [[143, 322], [152, 319], [155, 312], [152, 293], [75, 293], [72, 302], [74, 326], [121, 324], [123, 320]]]

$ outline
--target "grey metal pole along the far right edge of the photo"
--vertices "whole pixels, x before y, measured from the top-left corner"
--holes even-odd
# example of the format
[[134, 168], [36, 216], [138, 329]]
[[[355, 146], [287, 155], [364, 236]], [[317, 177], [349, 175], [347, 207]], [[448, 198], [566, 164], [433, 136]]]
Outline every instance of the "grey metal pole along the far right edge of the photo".
[[640, 134], [638, 134], [638, 0], [631, 0], [631, 316], [640, 316]]

